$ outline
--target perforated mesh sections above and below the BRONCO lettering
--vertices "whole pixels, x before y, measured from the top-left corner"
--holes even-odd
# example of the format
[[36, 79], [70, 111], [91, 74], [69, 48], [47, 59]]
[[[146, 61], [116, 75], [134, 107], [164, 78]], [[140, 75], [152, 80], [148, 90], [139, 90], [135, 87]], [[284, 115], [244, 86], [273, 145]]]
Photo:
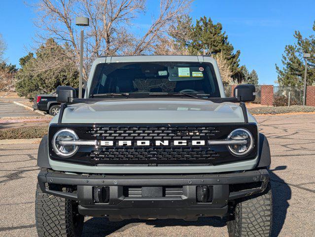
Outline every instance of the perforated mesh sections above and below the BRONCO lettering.
[[[220, 131], [213, 126], [125, 126], [94, 127], [89, 131], [98, 140], [151, 141], [151, 146], [100, 147], [90, 154], [95, 163], [205, 163], [219, 156], [208, 146], [193, 147], [193, 140], [210, 140]], [[154, 146], [155, 140], [168, 140], [169, 146]], [[187, 141], [175, 146], [174, 140]]]

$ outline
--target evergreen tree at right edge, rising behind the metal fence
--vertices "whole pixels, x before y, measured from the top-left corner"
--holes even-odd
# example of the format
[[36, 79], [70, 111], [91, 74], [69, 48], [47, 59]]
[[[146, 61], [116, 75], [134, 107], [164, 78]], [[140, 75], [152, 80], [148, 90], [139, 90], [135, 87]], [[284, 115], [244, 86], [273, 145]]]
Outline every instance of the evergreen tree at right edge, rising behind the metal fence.
[[[313, 25], [315, 31], [315, 22]], [[303, 53], [311, 53], [308, 59], [307, 84], [315, 82], [315, 35], [303, 38], [299, 31], [295, 31], [296, 43], [286, 45], [282, 54], [283, 68], [276, 64], [278, 82], [280, 85], [303, 85], [305, 61]]]

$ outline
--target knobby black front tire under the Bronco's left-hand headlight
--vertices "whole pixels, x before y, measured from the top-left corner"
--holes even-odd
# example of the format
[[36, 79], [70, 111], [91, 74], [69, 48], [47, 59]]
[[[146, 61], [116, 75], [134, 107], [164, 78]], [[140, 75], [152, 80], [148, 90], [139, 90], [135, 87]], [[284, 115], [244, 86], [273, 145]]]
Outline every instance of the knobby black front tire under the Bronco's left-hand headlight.
[[78, 204], [53, 195], [44, 194], [37, 183], [35, 220], [38, 237], [80, 237], [84, 216]]

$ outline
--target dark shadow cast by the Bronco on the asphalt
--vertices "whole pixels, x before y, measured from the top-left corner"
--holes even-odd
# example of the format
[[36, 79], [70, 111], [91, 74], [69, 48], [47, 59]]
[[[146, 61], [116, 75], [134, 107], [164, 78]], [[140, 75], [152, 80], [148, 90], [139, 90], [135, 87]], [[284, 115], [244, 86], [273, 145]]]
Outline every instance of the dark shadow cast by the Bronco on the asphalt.
[[[286, 166], [278, 166], [274, 170], [270, 170], [270, 177], [272, 180], [273, 191], [273, 230], [272, 237], [277, 237], [283, 227], [284, 220], [289, 206], [288, 200], [291, 198], [291, 189], [285, 184], [285, 182], [277, 176], [273, 171], [283, 170]], [[212, 226], [212, 227], [224, 227], [226, 226], [226, 218], [212, 217], [212, 218], [199, 218], [198, 221], [184, 221], [180, 219], [171, 220], [124, 220], [120, 222], [109, 222], [107, 218], [94, 217], [88, 219], [83, 227], [82, 237], [105, 237], [112, 233], [121, 233], [129, 228], [136, 227], [138, 225], [145, 224], [151, 225], [156, 228], [172, 227], [172, 226]]]

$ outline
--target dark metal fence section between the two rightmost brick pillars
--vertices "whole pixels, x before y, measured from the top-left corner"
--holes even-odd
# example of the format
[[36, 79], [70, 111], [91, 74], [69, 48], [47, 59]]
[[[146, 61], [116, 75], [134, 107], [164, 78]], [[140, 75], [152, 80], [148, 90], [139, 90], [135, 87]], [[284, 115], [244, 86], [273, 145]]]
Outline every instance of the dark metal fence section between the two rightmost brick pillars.
[[274, 86], [274, 104], [276, 106], [303, 105], [303, 87]]

